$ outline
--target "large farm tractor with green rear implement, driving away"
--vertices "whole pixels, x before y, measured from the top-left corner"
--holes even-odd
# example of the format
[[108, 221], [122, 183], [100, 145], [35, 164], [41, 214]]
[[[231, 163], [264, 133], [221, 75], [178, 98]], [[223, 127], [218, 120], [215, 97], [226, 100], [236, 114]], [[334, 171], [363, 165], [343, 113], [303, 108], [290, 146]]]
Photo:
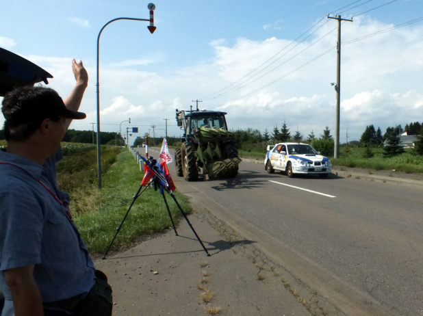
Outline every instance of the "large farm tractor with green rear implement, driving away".
[[228, 131], [225, 112], [178, 111], [177, 123], [183, 129], [181, 149], [175, 150], [178, 176], [187, 181], [198, 177], [217, 179], [238, 174], [241, 159], [235, 133]]

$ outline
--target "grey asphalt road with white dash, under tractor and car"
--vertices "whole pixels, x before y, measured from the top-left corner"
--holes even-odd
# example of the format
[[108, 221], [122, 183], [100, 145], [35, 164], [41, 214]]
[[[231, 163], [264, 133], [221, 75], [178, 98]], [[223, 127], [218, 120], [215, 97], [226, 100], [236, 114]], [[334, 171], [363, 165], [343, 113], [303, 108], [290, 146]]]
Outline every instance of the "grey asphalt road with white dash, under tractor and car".
[[179, 192], [257, 241], [342, 313], [423, 315], [422, 186], [359, 176], [289, 179], [248, 162], [235, 179], [172, 176]]

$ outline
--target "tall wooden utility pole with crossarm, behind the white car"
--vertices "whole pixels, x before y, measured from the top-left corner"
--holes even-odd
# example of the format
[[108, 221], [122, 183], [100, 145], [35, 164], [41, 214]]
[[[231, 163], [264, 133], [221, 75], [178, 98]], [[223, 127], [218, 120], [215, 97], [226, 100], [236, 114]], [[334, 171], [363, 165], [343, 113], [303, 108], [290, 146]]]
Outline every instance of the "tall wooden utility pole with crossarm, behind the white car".
[[338, 21], [338, 42], [337, 42], [337, 66], [336, 66], [336, 85], [335, 83], [331, 83], [331, 85], [335, 85], [336, 91], [336, 114], [335, 114], [335, 150], [333, 153], [333, 157], [335, 159], [339, 158], [339, 112], [340, 112], [340, 104], [341, 104], [341, 21], [348, 21], [352, 22], [352, 20], [347, 20], [345, 18], [341, 18], [340, 15], [337, 16], [329, 16], [328, 18], [333, 18]]

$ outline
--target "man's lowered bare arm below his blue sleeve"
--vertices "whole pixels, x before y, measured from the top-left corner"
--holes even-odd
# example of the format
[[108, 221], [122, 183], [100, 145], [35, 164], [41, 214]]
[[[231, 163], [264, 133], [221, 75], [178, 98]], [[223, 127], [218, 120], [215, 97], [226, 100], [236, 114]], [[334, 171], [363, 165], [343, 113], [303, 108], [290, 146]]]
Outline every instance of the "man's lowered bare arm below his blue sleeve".
[[40, 291], [34, 280], [34, 265], [4, 271], [12, 293], [15, 316], [43, 316]]

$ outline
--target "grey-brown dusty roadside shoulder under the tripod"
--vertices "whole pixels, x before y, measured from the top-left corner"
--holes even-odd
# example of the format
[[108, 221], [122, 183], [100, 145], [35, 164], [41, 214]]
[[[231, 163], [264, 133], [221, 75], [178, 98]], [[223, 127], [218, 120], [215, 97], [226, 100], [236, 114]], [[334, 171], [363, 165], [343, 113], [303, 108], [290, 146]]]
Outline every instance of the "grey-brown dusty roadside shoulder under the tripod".
[[169, 229], [94, 260], [112, 285], [113, 315], [324, 315], [251, 241], [205, 209], [189, 220], [210, 256], [182, 219], [179, 236]]

